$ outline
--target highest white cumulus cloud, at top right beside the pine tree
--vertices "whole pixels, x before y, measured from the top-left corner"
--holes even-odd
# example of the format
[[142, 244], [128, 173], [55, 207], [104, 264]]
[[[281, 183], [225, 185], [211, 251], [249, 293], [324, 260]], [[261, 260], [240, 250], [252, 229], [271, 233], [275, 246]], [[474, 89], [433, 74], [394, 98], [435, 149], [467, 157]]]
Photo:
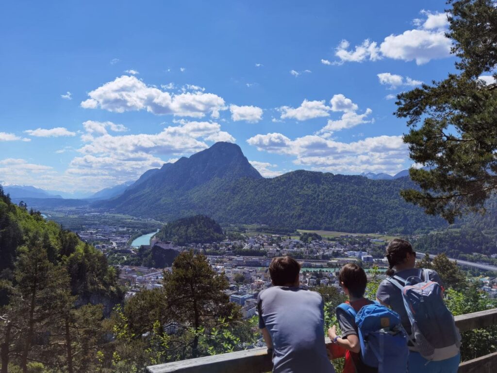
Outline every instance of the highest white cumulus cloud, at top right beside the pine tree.
[[[447, 14], [422, 10], [425, 19], [414, 19], [418, 26], [402, 34], [387, 36], [378, 43], [365, 39], [362, 44], [350, 48], [350, 43], [343, 39], [335, 50], [337, 61], [322, 60], [326, 65], [341, 65], [345, 62], [377, 61], [384, 57], [394, 60], [415, 61], [417, 65], [434, 59], [450, 56], [452, 41], [445, 37], [448, 26]], [[324, 62], [326, 61], [326, 62]], [[329, 62], [329, 63], [328, 63]]]

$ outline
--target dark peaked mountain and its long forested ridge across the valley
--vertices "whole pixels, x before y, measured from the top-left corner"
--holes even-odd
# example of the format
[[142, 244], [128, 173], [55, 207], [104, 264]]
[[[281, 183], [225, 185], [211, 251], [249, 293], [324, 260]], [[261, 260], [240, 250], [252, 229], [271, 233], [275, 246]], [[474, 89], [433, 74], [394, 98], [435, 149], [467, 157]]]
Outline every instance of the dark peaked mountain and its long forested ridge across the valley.
[[223, 224], [371, 233], [412, 233], [446, 225], [407, 203], [399, 191], [409, 177], [333, 175], [298, 170], [263, 178], [241, 148], [210, 148], [145, 172], [136, 182], [106, 188], [91, 199], [30, 198], [38, 209], [89, 206], [101, 211], [171, 221], [203, 214]]

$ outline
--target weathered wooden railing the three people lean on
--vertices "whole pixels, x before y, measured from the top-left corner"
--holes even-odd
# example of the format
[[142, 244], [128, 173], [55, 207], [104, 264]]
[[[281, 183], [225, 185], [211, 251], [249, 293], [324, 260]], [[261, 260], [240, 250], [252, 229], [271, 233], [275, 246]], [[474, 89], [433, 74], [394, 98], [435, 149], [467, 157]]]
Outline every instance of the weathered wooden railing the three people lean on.
[[[465, 332], [497, 325], [497, 308], [456, 316], [459, 331]], [[331, 343], [327, 338], [326, 343]], [[463, 340], [464, 343], [464, 340]], [[266, 348], [206, 356], [147, 367], [148, 373], [261, 373], [272, 370], [271, 358]], [[497, 352], [466, 361], [459, 366], [459, 373], [497, 372]]]

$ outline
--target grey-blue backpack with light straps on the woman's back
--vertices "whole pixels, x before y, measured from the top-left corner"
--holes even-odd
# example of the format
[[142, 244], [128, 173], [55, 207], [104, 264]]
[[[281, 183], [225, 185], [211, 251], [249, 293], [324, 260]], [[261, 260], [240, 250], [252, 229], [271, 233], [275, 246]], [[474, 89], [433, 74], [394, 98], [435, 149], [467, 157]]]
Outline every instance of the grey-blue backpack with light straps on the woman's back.
[[[424, 279], [423, 279], [424, 278]], [[402, 291], [404, 306], [411, 322], [410, 336], [416, 350], [427, 360], [445, 360], [456, 356], [461, 336], [454, 317], [443, 302], [442, 287], [429, 279], [427, 270], [407, 280], [399, 276], [387, 279]]]

